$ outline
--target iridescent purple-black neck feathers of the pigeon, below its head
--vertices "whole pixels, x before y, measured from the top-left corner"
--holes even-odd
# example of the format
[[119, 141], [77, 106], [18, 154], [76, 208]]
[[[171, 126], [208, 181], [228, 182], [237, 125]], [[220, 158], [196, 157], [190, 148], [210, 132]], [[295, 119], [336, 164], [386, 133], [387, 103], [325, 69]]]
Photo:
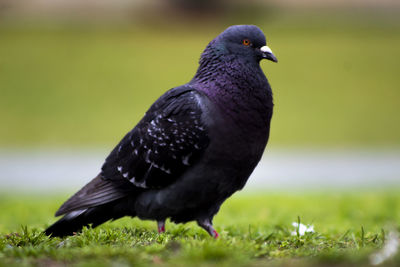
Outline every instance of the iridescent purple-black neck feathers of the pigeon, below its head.
[[272, 92], [258, 62], [221, 56], [207, 47], [190, 84], [205, 93], [236, 124], [248, 126], [251, 120], [254, 128], [269, 128]]

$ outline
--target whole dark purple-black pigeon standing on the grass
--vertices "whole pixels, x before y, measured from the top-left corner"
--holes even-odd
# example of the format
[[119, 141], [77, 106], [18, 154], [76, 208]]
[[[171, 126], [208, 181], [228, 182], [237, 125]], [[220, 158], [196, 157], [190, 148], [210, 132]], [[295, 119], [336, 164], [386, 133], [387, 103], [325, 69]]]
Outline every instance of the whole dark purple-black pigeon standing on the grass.
[[193, 79], [156, 100], [45, 233], [131, 216], [156, 221], [160, 233], [167, 219], [196, 221], [217, 238], [213, 217], [245, 186], [268, 142], [273, 98], [262, 59], [277, 62], [257, 26], [230, 26], [213, 39]]

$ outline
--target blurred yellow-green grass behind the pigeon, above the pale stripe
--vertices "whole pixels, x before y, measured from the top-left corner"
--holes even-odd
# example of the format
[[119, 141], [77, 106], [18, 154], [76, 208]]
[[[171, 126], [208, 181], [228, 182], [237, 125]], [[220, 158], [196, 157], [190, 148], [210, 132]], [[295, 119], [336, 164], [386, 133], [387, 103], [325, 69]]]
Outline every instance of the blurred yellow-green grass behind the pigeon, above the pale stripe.
[[[262, 63], [271, 144], [398, 147], [399, 20], [294, 14], [232, 21], [258, 24], [279, 58]], [[114, 145], [226, 26], [3, 24], [0, 146]]]

